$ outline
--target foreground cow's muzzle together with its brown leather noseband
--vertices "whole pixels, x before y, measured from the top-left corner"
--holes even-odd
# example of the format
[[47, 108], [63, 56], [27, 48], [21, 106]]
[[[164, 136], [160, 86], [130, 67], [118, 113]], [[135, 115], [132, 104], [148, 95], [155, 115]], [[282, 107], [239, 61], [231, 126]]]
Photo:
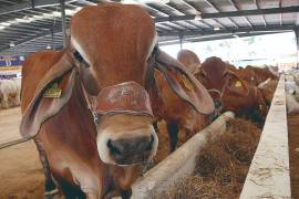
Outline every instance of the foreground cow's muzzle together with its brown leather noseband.
[[143, 164], [157, 150], [157, 135], [147, 92], [135, 82], [101, 91], [96, 97], [99, 115], [97, 151], [106, 164]]

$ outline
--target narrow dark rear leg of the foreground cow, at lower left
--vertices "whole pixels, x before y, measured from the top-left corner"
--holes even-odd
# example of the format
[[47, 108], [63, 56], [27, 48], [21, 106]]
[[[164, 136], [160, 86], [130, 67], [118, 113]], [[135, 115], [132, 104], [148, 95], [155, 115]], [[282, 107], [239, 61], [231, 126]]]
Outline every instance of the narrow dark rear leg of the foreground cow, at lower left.
[[42, 164], [43, 174], [45, 177], [45, 179], [44, 179], [44, 198], [47, 198], [47, 199], [54, 198], [55, 196], [58, 196], [59, 191], [58, 191], [55, 182], [53, 181], [45, 151], [43, 149], [41, 142], [34, 139], [34, 143], [37, 145], [37, 148], [38, 148], [38, 151], [40, 155], [40, 161]]

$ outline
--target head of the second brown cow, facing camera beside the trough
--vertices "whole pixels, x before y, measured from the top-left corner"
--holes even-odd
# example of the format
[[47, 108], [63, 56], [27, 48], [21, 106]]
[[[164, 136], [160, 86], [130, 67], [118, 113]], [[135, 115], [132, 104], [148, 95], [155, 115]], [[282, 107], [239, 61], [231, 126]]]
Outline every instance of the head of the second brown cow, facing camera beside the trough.
[[228, 70], [226, 63], [216, 56], [208, 57], [198, 73], [199, 82], [209, 91], [215, 104], [221, 104], [224, 93], [228, 95], [237, 93], [247, 96], [249, 88], [233, 71]]

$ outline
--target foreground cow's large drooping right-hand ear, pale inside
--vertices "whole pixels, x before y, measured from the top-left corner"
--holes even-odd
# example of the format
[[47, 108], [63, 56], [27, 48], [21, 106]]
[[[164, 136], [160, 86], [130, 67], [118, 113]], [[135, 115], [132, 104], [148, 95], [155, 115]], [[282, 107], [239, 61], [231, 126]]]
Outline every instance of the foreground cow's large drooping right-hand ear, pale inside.
[[212, 114], [215, 109], [206, 88], [175, 59], [156, 50], [155, 70], [159, 71], [169, 87], [198, 113]]

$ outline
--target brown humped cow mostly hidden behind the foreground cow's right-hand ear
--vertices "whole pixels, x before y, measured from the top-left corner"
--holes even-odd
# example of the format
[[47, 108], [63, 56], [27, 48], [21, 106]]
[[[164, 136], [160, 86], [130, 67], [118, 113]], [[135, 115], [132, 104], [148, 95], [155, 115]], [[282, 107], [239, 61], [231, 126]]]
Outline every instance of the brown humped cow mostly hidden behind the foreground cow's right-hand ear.
[[[183, 63], [186, 70], [188, 70], [192, 74], [197, 73], [200, 67], [199, 59], [192, 51], [179, 51], [177, 54], [177, 60]], [[166, 122], [171, 142], [169, 150], [174, 151], [177, 147], [178, 132], [185, 133], [184, 140], [186, 140], [195, 133], [203, 129], [210, 122], [210, 118], [204, 114], [197, 113], [188, 104], [182, 102], [182, 100], [173, 93], [162, 75], [156, 74], [156, 82], [157, 88], [161, 92], [159, 104], [163, 104], [163, 116], [161, 116], [161, 118], [163, 117]], [[188, 87], [188, 82], [183, 81], [183, 84]]]

